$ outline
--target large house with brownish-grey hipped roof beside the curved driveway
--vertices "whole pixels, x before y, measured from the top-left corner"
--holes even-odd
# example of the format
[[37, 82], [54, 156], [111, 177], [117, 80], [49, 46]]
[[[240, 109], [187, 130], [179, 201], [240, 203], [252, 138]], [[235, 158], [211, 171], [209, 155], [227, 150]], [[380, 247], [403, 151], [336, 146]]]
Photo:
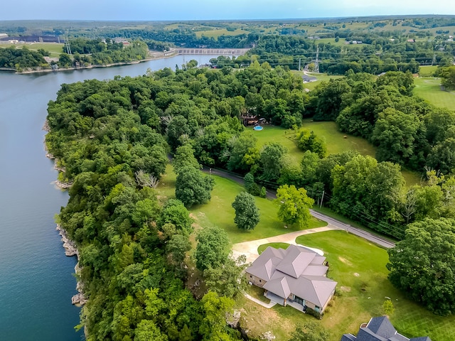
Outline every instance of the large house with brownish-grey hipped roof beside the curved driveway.
[[326, 264], [326, 257], [306, 247], [267, 247], [245, 273], [248, 281], [264, 288], [264, 296], [272, 301], [323, 313], [336, 288], [336, 281], [326, 277]]

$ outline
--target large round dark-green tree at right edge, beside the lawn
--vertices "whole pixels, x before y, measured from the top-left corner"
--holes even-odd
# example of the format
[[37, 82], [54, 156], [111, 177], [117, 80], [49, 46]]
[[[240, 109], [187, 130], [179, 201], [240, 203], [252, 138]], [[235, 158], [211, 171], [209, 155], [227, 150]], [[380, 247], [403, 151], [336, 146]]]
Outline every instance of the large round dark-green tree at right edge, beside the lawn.
[[455, 311], [455, 220], [414, 222], [405, 239], [387, 252], [395, 287], [434, 313]]

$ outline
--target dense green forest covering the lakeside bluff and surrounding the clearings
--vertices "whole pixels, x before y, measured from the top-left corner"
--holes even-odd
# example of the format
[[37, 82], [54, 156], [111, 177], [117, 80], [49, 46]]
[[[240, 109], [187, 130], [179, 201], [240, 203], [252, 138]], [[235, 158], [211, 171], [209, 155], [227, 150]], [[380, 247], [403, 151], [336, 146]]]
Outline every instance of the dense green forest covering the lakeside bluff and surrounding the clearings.
[[[325, 191], [333, 210], [397, 239], [407, 224], [455, 217], [455, 114], [412, 96], [410, 72], [348, 72], [307, 94], [284, 67], [196, 65], [64, 84], [48, 104], [46, 145], [63, 169], [59, 179], [73, 183], [58, 222], [80, 250], [87, 340], [240, 337], [225, 323], [242, 271], [228, 257], [227, 236], [203, 230], [188, 256], [186, 207], [210, 200], [213, 186], [200, 163], [245, 175], [255, 195], [257, 183], [304, 187], [315, 200]], [[245, 115], [292, 129], [301, 162], [289, 161], [281, 144], [259, 148], [240, 121]], [[299, 128], [303, 117], [369, 139], [378, 160], [353, 151], [326, 156], [323, 139]], [[154, 187], [168, 153], [176, 200], [163, 201]], [[401, 166], [426, 181], [405, 188]], [[193, 264], [210, 289], [203, 296], [188, 287]]]

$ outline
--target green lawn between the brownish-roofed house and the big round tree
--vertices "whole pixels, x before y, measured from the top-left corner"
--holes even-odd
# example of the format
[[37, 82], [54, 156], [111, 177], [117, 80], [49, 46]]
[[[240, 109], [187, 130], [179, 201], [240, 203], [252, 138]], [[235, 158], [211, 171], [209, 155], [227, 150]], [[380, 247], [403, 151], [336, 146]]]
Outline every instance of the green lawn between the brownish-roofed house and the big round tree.
[[385, 297], [395, 306], [392, 324], [407, 337], [428, 335], [433, 341], [446, 341], [455, 335], [455, 316], [429, 313], [390, 284], [385, 249], [344, 231], [306, 234], [296, 242], [322, 249], [330, 266], [328, 276], [338, 282], [338, 295], [321, 321], [333, 333], [331, 340], [340, 340], [343, 332], [355, 334], [360, 323], [382, 315]]

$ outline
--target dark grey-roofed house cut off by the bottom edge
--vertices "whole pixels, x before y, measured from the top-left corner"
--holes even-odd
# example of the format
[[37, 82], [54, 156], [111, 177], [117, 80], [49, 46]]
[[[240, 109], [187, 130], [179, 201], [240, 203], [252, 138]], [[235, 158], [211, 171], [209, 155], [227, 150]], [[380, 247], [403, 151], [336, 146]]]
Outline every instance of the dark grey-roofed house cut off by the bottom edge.
[[413, 337], [408, 339], [393, 327], [387, 316], [371, 318], [370, 322], [360, 325], [357, 337], [345, 334], [341, 341], [432, 341], [429, 337]]

